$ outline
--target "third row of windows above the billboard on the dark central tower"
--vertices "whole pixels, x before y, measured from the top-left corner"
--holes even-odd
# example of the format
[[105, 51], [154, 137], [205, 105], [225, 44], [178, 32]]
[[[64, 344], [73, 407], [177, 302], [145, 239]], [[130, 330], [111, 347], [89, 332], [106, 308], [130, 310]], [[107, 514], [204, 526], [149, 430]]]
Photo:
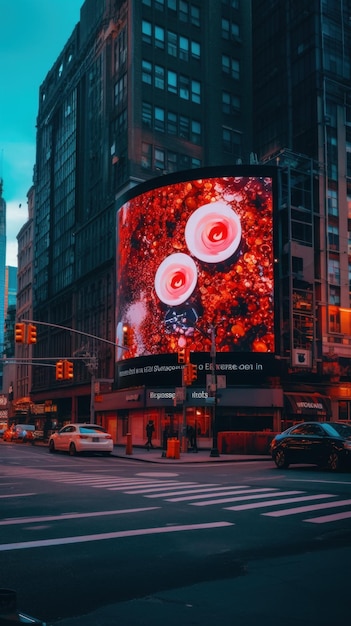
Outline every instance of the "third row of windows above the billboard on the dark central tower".
[[142, 61], [142, 81], [158, 89], [167, 89], [182, 100], [190, 100], [201, 104], [201, 84], [189, 76], [166, 70], [162, 65], [154, 65], [150, 61]]

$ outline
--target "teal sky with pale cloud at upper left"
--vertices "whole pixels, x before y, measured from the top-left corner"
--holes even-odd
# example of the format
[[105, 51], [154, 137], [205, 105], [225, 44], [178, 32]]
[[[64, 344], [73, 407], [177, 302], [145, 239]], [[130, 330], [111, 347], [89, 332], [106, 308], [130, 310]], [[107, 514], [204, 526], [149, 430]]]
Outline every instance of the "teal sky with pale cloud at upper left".
[[6, 201], [6, 265], [28, 219], [39, 87], [80, 19], [84, 0], [0, 0], [0, 178]]

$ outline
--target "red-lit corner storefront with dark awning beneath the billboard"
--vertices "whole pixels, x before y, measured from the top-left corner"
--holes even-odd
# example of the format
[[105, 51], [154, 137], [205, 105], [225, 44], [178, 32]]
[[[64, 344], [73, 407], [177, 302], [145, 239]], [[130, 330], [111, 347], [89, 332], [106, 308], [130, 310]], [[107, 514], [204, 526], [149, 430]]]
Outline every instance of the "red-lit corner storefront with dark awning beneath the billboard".
[[127, 433], [134, 445], [144, 445], [149, 420], [155, 425], [155, 445], [164, 447], [167, 437], [182, 437], [192, 427], [200, 447], [210, 448], [213, 421], [217, 431], [280, 430], [283, 392], [276, 388], [229, 388], [211, 397], [204, 388], [187, 388], [185, 401], [172, 387], [121, 390], [99, 396], [95, 417], [124, 444]]

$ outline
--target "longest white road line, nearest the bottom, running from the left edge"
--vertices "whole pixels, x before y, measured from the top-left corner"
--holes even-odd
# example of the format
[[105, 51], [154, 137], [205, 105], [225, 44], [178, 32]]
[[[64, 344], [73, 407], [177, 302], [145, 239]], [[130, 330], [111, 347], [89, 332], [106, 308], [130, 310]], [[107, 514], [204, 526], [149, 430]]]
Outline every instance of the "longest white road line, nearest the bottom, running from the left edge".
[[38, 541], [23, 541], [20, 543], [0, 544], [0, 552], [11, 550], [27, 550], [31, 548], [47, 548], [49, 546], [63, 546], [68, 544], [87, 543], [90, 541], [106, 541], [111, 539], [122, 539], [125, 537], [140, 537], [147, 535], [161, 535], [165, 533], [188, 532], [193, 530], [211, 530], [215, 528], [225, 528], [234, 526], [231, 522], [211, 522], [207, 524], [187, 524], [181, 526], [160, 526], [156, 528], [138, 528], [136, 530], [120, 530], [113, 533], [102, 533], [97, 535], [77, 535], [75, 537], [59, 537], [57, 539], [41, 539]]

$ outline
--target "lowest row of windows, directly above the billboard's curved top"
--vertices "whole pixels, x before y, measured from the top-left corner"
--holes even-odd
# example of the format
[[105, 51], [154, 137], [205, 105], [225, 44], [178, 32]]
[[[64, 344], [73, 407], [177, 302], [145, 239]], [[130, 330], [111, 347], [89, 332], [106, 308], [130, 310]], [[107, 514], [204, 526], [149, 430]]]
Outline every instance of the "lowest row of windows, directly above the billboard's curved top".
[[200, 159], [189, 154], [180, 154], [143, 142], [141, 146], [141, 165], [145, 169], [158, 169], [162, 172], [177, 172], [183, 169], [201, 167]]

